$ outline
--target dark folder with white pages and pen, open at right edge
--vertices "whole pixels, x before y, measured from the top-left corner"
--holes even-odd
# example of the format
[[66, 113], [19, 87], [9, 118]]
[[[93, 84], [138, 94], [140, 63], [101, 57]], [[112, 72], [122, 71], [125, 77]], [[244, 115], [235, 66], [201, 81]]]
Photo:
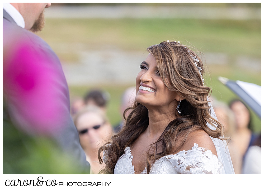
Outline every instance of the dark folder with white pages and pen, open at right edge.
[[218, 80], [238, 95], [261, 119], [261, 86], [221, 76]]

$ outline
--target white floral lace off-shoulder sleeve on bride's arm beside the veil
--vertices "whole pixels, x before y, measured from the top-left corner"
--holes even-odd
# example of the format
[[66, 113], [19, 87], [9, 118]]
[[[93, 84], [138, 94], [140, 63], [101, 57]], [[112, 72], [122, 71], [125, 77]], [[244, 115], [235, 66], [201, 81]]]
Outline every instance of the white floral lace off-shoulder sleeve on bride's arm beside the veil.
[[220, 174], [223, 165], [210, 150], [198, 147], [196, 143], [191, 150], [180, 151], [175, 155], [165, 156], [177, 173], [180, 174]]

